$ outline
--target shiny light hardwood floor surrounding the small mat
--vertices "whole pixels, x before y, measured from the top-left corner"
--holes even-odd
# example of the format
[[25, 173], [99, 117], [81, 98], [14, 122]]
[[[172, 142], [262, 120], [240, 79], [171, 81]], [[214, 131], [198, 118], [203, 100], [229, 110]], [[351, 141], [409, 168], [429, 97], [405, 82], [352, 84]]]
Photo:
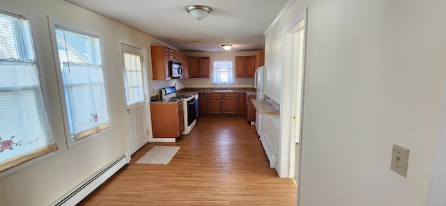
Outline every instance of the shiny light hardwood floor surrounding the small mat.
[[[181, 148], [167, 165], [134, 164], [154, 145]], [[295, 193], [293, 180], [269, 168], [254, 125], [199, 117], [176, 143], [148, 143], [135, 152], [79, 205], [295, 205]]]

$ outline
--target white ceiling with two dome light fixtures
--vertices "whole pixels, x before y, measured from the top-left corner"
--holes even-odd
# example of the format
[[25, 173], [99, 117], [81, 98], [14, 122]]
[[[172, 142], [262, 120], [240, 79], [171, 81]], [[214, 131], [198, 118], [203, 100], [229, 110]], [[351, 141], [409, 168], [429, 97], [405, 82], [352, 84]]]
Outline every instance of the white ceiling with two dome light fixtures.
[[[261, 51], [263, 32], [288, 0], [66, 0], [126, 24], [182, 52]], [[106, 3], [105, 3], [106, 2]], [[210, 6], [212, 12], [198, 21], [186, 6]]]

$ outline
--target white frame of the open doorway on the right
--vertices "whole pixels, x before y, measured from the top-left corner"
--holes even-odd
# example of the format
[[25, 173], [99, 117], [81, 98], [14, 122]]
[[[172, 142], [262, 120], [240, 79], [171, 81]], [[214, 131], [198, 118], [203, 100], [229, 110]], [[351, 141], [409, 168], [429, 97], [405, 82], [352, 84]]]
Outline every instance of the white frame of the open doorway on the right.
[[[298, 15], [288, 29], [284, 29], [284, 74], [282, 84], [282, 102], [289, 108], [288, 113], [282, 113], [282, 146], [288, 150], [288, 176], [295, 175], [295, 143], [298, 141], [298, 177], [295, 179], [297, 185], [296, 204], [299, 203], [300, 193], [300, 159], [302, 154], [302, 125], [304, 115], [305, 98], [305, 67], [307, 48], [307, 22], [308, 8]], [[286, 95], [289, 94], [289, 95]], [[297, 139], [296, 139], [297, 136]]]

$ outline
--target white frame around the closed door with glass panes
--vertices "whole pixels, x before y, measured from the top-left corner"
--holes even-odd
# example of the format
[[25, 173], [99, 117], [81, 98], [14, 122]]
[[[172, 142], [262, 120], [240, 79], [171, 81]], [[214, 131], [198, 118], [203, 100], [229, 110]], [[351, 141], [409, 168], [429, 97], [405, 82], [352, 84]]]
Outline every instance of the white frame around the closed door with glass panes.
[[[144, 61], [142, 62], [142, 64], [141, 64], [141, 66], [142, 66], [142, 69], [143, 69], [143, 81], [144, 81], [144, 95], [145, 95], [145, 102], [144, 102], [144, 109], [145, 109], [145, 116], [144, 116], [144, 118], [146, 118], [146, 128], [147, 128], [147, 135], [148, 135], [148, 140], [151, 138], [151, 136], [152, 136], [152, 131], [151, 131], [151, 125], [152, 125], [152, 123], [151, 123], [151, 114], [150, 114], [150, 111], [151, 111], [151, 109], [150, 109], [150, 102], [149, 102], [149, 100], [148, 100], [148, 97], [149, 97], [149, 95], [148, 95], [148, 91], [149, 91], [149, 82], [148, 82], [148, 67], [147, 67], [147, 60], [148, 60], [148, 58], [147, 58], [147, 47], [146, 46], [144, 46], [144, 45], [139, 45], [139, 44], [137, 44], [137, 43], [134, 43], [134, 42], [131, 42], [131, 41], [129, 41], [129, 40], [125, 40], [125, 39], [122, 39], [122, 38], [119, 38], [119, 40], [118, 40], [118, 45], [119, 45], [119, 55], [120, 56], [122, 56], [122, 54], [123, 54], [123, 45], [127, 45], [127, 46], [130, 46], [130, 47], [134, 47], [134, 48], [137, 48], [137, 49], [141, 49], [141, 52], [142, 52], [142, 55], [141, 55], [141, 57], [144, 59]], [[122, 57], [120, 58], [120, 63], [121, 63], [121, 68], [123, 68], [123, 60], [122, 60]], [[123, 73], [124, 71], [123, 70], [121, 70], [121, 77], [123, 77], [124, 78], [124, 73]], [[123, 79], [123, 84], [124, 84], [124, 82], [125, 82], [125, 79]], [[124, 102], [123, 102], [123, 105], [127, 105], [127, 102], [125, 102], [125, 100], [126, 100], [126, 97], [125, 97], [125, 91], [124, 91], [124, 93], [123, 93], [123, 95], [124, 95], [124, 98], [123, 98], [123, 100], [124, 100]], [[126, 113], [125, 112], [127, 112], [127, 111], [124, 111], [124, 116], [123, 116], [123, 118], [124, 118], [124, 121], [125, 121], [125, 139], [126, 139], [126, 144], [127, 144], [127, 157], [129, 157], [128, 158], [128, 161], [130, 162], [130, 159], [131, 159], [131, 154], [130, 154], [130, 144], [129, 144], [129, 141], [130, 141], [130, 136], [128, 136], [128, 128], [127, 128], [127, 125], [128, 125], [128, 118], [127, 118], [127, 116], [126, 116]]]

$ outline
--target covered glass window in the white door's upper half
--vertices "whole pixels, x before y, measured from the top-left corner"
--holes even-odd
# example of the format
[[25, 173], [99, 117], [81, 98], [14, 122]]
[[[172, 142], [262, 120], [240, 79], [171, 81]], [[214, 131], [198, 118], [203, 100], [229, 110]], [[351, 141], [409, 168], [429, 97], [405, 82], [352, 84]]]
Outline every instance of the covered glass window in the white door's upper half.
[[123, 52], [127, 105], [144, 102], [141, 56]]

